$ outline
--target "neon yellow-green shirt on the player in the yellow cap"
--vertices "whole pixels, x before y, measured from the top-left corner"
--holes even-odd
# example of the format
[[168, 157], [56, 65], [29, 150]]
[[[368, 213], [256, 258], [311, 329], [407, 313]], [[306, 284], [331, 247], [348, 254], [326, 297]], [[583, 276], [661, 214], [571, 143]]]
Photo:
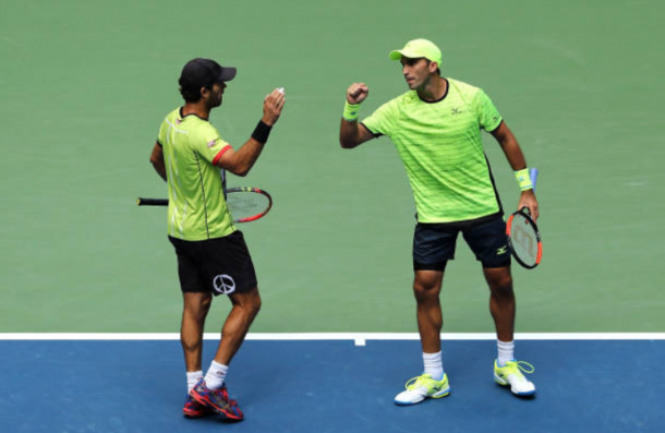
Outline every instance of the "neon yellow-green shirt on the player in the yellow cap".
[[415, 91], [384, 104], [362, 124], [390, 137], [402, 159], [420, 222], [456, 222], [501, 214], [481, 139], [501, 116], [485, 93], [447, 79], [435, 103]]

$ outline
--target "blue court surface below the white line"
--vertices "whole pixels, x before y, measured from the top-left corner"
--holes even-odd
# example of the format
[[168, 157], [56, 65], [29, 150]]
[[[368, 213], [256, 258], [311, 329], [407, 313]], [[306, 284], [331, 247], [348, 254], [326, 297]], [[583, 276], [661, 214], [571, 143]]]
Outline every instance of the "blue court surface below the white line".
[[[663, 340], [524, 340], [534, 399], [492, 380], [492, 340], [444, 341], [452, 393], [397, 407], [419, 341], [250, 340], [228, 386], [237, 424], [182, 417], [179, 341], [1, 341], [2, 432], [662, 432]], [[215, 344], [206, 341], [204, 358]], [[650, 374], [652, 373], [653, 374]]]

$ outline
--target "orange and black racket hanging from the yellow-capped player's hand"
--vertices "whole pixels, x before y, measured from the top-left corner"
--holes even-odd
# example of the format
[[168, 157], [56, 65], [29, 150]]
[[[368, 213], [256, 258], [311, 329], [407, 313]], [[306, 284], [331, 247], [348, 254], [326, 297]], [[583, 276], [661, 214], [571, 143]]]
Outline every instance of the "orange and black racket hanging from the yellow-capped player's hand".
[[[532, 168], [530, 175], [533, 190], [535, 191], [535, 180], [539, 175], [537, 168]], [[527, 269], [533, 269], [541, 263], [541, 257], [543, 256], [541, 232], [531, 218], [528, 207], [522, 207], [510, 215], [506, 222], [506, 234], [510, 252], [520, 265]]]

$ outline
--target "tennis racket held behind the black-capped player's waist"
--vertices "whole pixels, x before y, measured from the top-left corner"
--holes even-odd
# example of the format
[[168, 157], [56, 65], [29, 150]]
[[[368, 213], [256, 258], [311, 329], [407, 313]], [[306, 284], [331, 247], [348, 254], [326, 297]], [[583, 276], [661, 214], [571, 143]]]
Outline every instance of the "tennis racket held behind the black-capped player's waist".
[[[250, 222], [264, 217], [273, 207], [273, 197], [264, 190], [251, 187], [229, 188], [226, 192], [227, 206], [233, 222]], [[167, 199], [136, 200], [138, 206], [168, 206]]]

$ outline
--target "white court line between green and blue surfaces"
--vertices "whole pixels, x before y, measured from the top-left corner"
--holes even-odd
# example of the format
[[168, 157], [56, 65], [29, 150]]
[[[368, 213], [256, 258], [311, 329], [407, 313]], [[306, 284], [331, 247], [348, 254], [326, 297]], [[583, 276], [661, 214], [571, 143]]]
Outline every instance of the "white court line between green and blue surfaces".
[[[205, 333], [206, 340], [219, 339], [218, 333]], [[494, 340], [494, 333], [442, 334], [443, 340]], [[0, 333], [1, 340], [179, 340], [178, 333]], [[352, 340], [365, 346], [367, 340], [418, 340], [416, 333], [252, 333], [247, 340]], [[665, 333], [517, 333], [516, 340], [665, 340]]]

